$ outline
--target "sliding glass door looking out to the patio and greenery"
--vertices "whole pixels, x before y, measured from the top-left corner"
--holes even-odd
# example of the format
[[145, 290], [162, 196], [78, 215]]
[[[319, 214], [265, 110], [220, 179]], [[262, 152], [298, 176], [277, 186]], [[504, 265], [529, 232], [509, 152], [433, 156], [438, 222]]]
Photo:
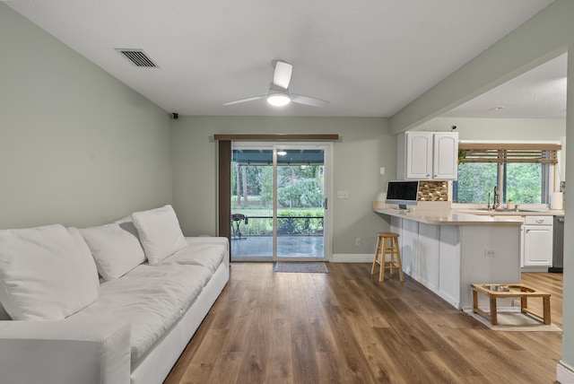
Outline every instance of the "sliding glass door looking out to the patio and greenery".
[[328, 144], [234, 144], [231, 255], [320, 260], [328, 232]]

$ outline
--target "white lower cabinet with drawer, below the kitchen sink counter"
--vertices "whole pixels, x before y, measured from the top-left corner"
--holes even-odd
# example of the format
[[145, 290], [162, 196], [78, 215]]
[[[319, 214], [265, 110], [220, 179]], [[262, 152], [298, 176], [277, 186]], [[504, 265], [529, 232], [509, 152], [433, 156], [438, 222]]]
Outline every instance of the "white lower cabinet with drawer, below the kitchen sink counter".
[[552, 216], [526, 216], [522, 266], [552, 266]]

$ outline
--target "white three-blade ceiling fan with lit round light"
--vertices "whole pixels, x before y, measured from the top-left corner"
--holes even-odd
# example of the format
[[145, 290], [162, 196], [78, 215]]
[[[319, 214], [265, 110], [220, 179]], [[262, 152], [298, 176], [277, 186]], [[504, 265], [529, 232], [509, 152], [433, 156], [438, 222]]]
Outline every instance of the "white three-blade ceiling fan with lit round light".
[[269, 84], [269, 91], [266, 95], [230, 101], [223, 105], [239, 104], [241, 102], [254, 101], [259, 99], [265, 99], [269, 104], [275, 107], [283, 107], [284, 105], [289, 104], [291, 101], [299, 104], [310, 105], [313, 107], [325, 107], [329, 104], [329, 101], [326, 100], [289, 92], [289, 83], [291, 82], [293, 65], [285, 63], [281, 60], [274, 60], [272, 65], [274, 65], [275, 68], [273, 82]]

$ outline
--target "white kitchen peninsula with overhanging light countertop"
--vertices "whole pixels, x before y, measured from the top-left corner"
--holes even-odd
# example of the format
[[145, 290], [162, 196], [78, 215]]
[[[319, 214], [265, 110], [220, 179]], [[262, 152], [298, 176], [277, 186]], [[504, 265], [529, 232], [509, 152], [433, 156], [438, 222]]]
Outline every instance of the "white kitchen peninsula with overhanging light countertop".
[[373, 205], [399, 233], [404, 273], [457, 309], [473, 305], [472, 283], [520, 282], [520, 225], [512, 216]]

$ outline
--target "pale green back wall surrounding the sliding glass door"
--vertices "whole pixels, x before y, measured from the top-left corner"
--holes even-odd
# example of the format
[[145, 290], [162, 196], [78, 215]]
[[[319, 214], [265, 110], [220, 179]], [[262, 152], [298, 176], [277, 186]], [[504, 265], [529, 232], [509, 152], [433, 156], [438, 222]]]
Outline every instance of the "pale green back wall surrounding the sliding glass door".
[[[334, 144], [333, 253], [370, 254], [388, 223], [371, 202], [396, 175], [396, 136], [385, 118], [180, 117], [172, 126], [174, 206], [187, 235], [216, 233], [217, 144], [214, 134], [339, 134]], [[386, 174], [380, 175], [380, 167]], [[335, 194], [336, 196], [336, 194]], [[361, 246], [355, 246], [361, 238]]]

